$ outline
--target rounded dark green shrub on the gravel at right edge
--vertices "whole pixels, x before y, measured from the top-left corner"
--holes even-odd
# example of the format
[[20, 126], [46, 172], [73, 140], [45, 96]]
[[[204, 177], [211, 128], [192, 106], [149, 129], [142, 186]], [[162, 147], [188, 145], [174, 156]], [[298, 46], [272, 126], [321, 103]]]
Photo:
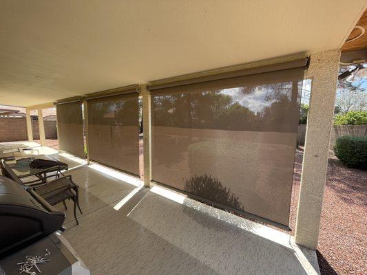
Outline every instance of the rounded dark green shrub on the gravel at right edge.
[[339, 137], [335, 142], [334, 153], [348, 167], [367, 169], [367, 137]]

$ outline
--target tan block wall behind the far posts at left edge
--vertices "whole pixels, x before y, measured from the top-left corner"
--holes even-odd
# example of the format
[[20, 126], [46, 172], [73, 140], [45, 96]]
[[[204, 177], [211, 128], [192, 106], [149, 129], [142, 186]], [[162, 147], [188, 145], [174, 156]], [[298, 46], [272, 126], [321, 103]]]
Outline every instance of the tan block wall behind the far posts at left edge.
[[[57, 138], [56, 121], [46, 120], [46, 138]], [[38, 121], [32, 120], [33, 139], [39, 140]], [[28, 140], [25, 118], [0, 118], [0, 142]]]

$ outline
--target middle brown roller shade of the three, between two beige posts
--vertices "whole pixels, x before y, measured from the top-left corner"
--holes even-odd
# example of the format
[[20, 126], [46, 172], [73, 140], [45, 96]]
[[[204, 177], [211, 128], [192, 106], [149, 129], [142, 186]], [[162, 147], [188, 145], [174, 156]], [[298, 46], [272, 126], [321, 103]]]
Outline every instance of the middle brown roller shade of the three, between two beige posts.
[[138, 93], [87, 100], [90, 159], [139, 175]]

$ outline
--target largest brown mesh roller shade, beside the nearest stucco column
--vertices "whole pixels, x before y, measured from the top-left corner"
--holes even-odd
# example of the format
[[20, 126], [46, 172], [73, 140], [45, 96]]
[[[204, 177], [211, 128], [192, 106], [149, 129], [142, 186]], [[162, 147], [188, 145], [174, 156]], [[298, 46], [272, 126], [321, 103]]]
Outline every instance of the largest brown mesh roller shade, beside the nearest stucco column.
[[152, 180], [288, 228], [306, 60], [284, 64], [149, 87]]

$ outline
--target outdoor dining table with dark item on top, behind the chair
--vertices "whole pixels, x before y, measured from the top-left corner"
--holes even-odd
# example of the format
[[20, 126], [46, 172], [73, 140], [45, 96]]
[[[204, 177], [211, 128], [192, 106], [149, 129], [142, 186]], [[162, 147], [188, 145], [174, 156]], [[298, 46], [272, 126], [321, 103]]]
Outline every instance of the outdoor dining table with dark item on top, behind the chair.
[[[45, 168], [30, 168], [30, 163], [34, 159], [46, 159], [46, 160], [58, 161], [58, 159], [54, 159], [50, 155], [37, 155], [34, 157], [17, 157], [12, 160], [7, 160], [6, 163], [8, 163], [10, 168], [12, 168], [14, 173], [19, 178], [35, 176], [35, 177], [38, 177], [39, 179], [42, 179], [42, 174], [44, 174], [43, 178], [45, 178], [46, 177], [45, 174], [47, 173], [49, 174], [53, 173], [55, 176], [57, 175], [57, 172], [61, 173], [61, 168], [63, 168], [62, 166], [54, 166], [54, 167], [47, 168], [46, 173], [45, 173], [45, 170], [46, 170]], [[67, 169], [66, 164], [65, 164], [65, 169]]]

